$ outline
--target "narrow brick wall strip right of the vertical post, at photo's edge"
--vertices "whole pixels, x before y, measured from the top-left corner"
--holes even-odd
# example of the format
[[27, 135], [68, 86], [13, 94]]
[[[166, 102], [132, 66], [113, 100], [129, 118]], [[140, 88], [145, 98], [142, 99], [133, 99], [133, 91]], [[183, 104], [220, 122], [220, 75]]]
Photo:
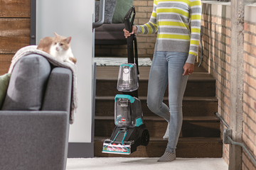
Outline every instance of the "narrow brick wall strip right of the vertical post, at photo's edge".
[[[256, 20], [255, 6], [245, 6], [244, 24], [244, 93], [242, 141], [256, 155]], [[256, 156], [255, 156], [256, 157]], [[242, 169], [255, 170], [248, 155], [242, 154]]]

